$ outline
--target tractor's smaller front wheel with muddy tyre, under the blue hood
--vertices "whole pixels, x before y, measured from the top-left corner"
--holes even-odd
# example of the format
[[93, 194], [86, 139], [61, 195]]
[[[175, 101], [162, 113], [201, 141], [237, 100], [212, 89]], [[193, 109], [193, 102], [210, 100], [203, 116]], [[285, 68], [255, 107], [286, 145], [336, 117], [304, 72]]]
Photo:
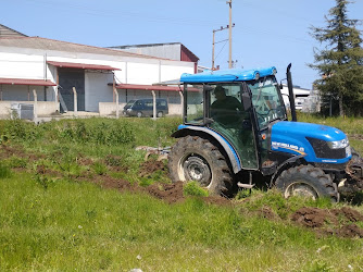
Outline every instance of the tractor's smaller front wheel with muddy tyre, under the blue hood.
[[322, 169], [313, 165], [300, 165], [285, 170], [276, 180], [276, 187], [286, 198], [303, 196], [312, 199], [328, 197], [333, 202], [339, 201], [339, 193], [331, 177]]

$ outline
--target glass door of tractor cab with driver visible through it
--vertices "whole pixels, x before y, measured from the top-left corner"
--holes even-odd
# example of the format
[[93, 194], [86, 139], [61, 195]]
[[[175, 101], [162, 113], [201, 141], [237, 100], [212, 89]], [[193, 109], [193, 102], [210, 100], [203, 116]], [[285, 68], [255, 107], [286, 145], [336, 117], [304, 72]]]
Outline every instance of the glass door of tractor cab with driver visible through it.
[[240, 158], [242, 169], [258, 170], [255, 132], [252, 125], [251, 109], [242, 102], [242, 85], [210, 84], [204, 86], [206, 108], [205, 115], [211, 122], [208, 126], [220, 133], [235, 149]]

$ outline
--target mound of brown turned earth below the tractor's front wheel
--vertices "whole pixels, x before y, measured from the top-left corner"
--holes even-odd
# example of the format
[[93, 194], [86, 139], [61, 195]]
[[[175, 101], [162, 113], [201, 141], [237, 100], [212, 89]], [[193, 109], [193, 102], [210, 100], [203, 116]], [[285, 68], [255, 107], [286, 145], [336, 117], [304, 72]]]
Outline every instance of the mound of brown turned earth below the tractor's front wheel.
[[363, 228], [355, 223], [363, 222], [363, 215], [351, 208], [318, 209], [301, 208], [291, 215], [292, 222], [315, 230], [320, 234], [340, 237], [363, 237]]

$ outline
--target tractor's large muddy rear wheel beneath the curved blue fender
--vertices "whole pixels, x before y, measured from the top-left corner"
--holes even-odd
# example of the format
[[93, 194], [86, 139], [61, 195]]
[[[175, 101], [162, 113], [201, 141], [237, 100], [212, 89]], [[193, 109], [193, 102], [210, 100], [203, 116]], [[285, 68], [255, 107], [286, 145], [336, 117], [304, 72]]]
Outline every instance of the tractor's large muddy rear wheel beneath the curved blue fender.
[[199, 136], [183, 137], [173, 146], [168, 171], [173, 182], [196, 181], [212, 195], [228, 196], [233, 187], [225, 157], [215, 145]]

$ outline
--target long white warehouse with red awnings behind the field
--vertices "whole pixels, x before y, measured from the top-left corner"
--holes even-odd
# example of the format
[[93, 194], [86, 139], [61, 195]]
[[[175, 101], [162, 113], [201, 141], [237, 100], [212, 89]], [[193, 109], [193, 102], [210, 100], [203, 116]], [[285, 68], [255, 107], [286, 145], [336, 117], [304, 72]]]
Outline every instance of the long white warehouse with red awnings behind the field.
[[154, 94], [168, 100], [170, 114], [180, 114], [179, 88], [154, 84], [195, 69], [191, 61], [24, 35], [0, 36], [0, 115], [8, 116], [14, 102], [35, 100], [39, 115], [74, 111], [74, 90], [77, 111], [114, 114], [117, 97], [122, 109], [130, 99]]

